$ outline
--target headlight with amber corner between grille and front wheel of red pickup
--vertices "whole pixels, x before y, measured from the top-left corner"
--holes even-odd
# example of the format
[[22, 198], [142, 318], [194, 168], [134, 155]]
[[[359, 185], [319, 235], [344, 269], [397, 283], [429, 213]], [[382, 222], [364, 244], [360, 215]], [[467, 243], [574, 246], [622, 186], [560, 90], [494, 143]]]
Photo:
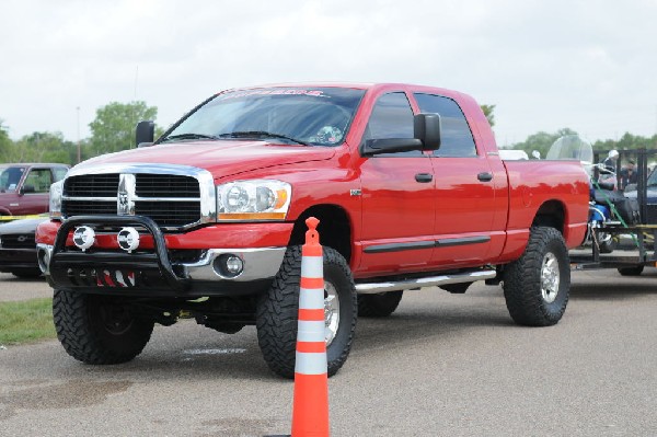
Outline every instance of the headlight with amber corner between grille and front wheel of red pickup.
[[292, 187], [270, 180], [237, 181], [217, 186], [217, 217], [223, 220], [284, 220]]

